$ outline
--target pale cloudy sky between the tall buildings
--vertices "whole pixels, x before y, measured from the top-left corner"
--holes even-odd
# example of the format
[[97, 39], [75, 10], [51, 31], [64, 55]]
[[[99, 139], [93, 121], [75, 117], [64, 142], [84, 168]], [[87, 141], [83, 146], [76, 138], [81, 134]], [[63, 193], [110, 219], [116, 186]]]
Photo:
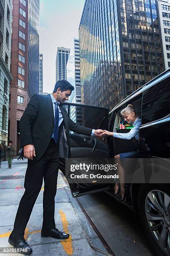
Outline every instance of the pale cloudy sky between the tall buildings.
[[40, 0], [40, 53], [43, 54], [43, 92], [55, 85], [57, 47], [71, 48], [85, 0]]

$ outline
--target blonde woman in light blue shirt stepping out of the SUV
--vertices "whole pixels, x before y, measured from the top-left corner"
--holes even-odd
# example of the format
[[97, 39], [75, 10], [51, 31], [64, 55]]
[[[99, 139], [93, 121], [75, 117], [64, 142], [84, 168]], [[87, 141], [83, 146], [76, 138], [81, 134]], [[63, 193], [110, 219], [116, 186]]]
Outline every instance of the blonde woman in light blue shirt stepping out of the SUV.
[[[130, 130], [129, 133], [113, 133], [110, 131], [104, 131], [102, 134], [106, 134], [109, 136], [113, 136], [115, 138], [130, 140], [131, 138], [135, 138], [137, 141], [139, 141], [139, 128], [141, 125], [141, 119], [137, 116], [137, 113], [135, 111], [135, 107], [132, 104], [129, 104], [126, 108], [124, 108], [121, 112], [122, 117], [125, 119], [127, 123], [133, 123], [133, 128]], [[119, 202], [125, 202], [127, 192], [125, 190], [125, 170], [124, 167], [121, 164], [120, 158], [137, 158], [138, 157], [138, 151], [131, 151], [122, 153], [115, 156], [115, 159], [118, 163], [117, 165], [117, 174], [119, 175], [119, 183], [115, 184], [115, 196], [120, 195], [117, 197], [117, 200]]]

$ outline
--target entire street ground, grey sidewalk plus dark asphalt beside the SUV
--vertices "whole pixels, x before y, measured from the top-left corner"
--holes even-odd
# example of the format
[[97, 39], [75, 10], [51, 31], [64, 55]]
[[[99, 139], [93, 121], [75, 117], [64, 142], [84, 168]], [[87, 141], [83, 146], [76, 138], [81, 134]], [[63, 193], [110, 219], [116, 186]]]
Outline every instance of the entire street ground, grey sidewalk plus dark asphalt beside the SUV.
[[[8, 169], [7, 162], [2, 162], [0, 247], [12, 247], [7, 240], [13, 229], [18, 204], [24, 192], [26, 166], [26, 160], [13, 160], [12, 169]], [[61, 174], [58, 177], [55, 197], [55, 222], [59, 230], [70, 233], [70, 238], [66, 241], [41, 238], [43, 190], [42, 185], [25, 232], [25, 238], [33, 249], [32, 255], [50, 253], [101, 256], [104, 253], [108, 255], [108, 252], [116, 256], [153, 255], [145, 241], [139, 217], [134, 212], [125, 205], [117, 203], [106, 193], [72, 198]]]

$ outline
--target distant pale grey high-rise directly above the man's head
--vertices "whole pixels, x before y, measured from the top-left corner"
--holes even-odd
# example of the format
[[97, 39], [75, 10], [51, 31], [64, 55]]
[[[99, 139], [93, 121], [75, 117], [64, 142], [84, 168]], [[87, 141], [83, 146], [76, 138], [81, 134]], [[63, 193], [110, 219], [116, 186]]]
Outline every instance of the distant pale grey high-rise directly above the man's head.
[[58, 80], [67, 80], [66, 65], [69, 54], [70, 48], [57, 47], [57, 55], [55, 62], [56, 82]]

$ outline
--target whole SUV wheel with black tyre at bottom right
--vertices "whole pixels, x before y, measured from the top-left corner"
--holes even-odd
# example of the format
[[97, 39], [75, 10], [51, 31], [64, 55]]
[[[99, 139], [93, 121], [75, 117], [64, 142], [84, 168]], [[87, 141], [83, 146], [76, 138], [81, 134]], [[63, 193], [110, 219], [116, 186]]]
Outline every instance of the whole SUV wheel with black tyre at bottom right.
[[143, 184], [138, 209], [155, 255], [170, 255], [170, 185]]

